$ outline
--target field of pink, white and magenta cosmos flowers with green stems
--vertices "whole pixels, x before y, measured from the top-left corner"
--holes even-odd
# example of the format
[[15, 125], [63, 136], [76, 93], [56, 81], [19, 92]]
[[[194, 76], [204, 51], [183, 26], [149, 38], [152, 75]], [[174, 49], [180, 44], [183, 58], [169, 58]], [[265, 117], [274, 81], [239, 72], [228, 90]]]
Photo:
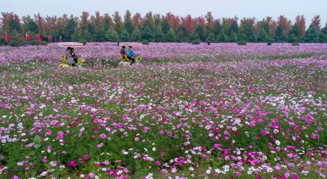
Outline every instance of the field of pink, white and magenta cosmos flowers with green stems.
[[327, 44], [119, 50], [0, 47], [0, 178], [326, 178]]

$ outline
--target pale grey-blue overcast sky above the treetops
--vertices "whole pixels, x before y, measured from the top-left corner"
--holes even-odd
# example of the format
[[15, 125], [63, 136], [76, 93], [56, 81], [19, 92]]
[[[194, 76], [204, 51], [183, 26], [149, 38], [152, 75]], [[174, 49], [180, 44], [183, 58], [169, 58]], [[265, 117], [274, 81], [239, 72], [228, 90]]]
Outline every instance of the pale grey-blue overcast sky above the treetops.
[[42, 16], [61, 16], [64, 13], [80, 16], [82, 11], [91, 14], [95, 11], [100, 11], [101, 14], [119, 11], [123, 16], [127, 9], [132, 14], [139, 12], [142, 16], [148, 11], [160, 14], [170, 11], [179, 16], [191, 14], [195, 17], [211, 11], [215, 18], [236, 15], [240, 19], [256, 17], [260, 20], [266, 16], [277, 19], [279, 15], [285, 15], [294, 21], [296, 15], [305, 15], [307, 27], [316, 14], [321, 16], [322, 25], [327, 22], [326, 7], [327, 0], [0, 0], [0, 11], [12, 11], [20, 17], [36, 13]]

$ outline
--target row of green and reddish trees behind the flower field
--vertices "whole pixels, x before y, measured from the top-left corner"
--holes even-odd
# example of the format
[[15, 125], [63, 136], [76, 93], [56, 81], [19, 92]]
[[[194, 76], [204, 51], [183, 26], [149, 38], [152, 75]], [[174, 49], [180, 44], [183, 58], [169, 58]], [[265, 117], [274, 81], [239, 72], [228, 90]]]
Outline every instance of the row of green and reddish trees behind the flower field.
[[146, 13], [142, 16], [127, 10], [122, 17], [118, 11], [112, 15], [82, 12], [80, 17], [64, 14], [60, 17], [35, 14], [22, 16], [2, 12], [0, 19], [0, 44], [5, 42], [5, 32], [11, 39], [23, 41], [28, 33], [31, 39], [40, 34], [43, 41], [52, 35], [54, 41], [137, 41], [154, 42], [315, 42], [327, 43], [327, 23], [321, 25], [320, 16], [312, 18], [309, 28], [303, 15], [294, 22], [281, 15], [277, 20], [266, 17], [215, 19], [212, 12], [200, 17]]

